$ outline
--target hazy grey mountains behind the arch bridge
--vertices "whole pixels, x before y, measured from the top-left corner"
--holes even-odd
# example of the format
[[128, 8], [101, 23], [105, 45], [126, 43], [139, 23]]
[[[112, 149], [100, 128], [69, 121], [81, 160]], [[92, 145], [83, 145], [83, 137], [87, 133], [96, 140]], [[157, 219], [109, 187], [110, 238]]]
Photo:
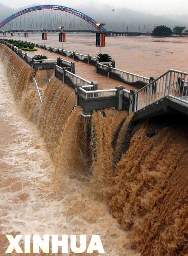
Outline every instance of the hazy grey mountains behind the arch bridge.
[[[166, 25], [173, 29], [175, 26], [186, 27], [188, 23], [186, 15], [179, 15], [179, 16], [173, 15], [173, 17], [168, 15], [158, 16], [153, 14], [147, 14], [144, 12], [129, 10], [127, 8], [115, 8], [114, 6], [104, 5], [104, 4], [96, 5], [92, 1], [87, 2], [86, 4], [77, 3], [77, 4], [74, 4], [73, 6], [71, 6], [68, 3], [69, 1], [67, 0], [63, 2], [65, 6], [69, 6], [74, 9], [77, 9], [87, 14], [88, 16], [92, 17], [93, 19], [97, 20], [98, 22], [106, 23], [107, 24], [106, 29], [107, 30], [111, 29], [111, 31], [122, 31], [122, 30], [127, 31], [127, 26], [128, 26], [128, 31], [151, 32], [154, 29], [154, 27], [158, 25]], [[25, 8], [28, 8], [28, 7], [25, 7]], [[10, 16], [12, 13], [15, 13], [21, 9], [24, 9], [24, 8], [11, 9], [9, 7], [6, 7], [0, 4], [1, 21], [6, 17]], [[54, 14], [54, 15], [60, 17], [61, 13]], [[26, 20], [24, 20], [24, 22], [25, 22], [24, 24], [22, 22], [22, 26], [26, 26], [26, 29], [31, 27], [31, 22], [27, 22]], [[58, 21], [56, 22], [58, 24]], [[73, 19], [70, 20], [70, 25], [74, 26]], [[87, 27], [85, 25], [85, 29], [86, 28]], [[15, 29], [15, 28], [12, 27], [12, 29]], [[84, 29], [84, 25], [82, 25], [82, 29]]]

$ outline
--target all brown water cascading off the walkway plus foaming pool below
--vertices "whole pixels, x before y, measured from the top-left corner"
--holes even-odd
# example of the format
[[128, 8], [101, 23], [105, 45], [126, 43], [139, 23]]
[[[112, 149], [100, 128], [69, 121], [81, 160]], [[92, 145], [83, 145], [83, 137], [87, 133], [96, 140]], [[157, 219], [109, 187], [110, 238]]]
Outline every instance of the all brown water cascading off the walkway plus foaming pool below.
[[5, 46], [1, 56], [2, 234], [98, 233], [106, 255], [186, 255], [185, 119], [131, 124], [126, 111], [104, 110], [86, 120], [56, 78], [40, 85], [40, 105], [40, 72]]

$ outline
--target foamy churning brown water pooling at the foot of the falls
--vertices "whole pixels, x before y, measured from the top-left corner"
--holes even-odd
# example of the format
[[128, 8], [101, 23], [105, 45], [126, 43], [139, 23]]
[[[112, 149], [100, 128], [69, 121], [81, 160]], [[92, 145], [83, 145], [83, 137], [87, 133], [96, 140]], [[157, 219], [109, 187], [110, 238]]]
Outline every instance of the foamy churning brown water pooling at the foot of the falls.
[[87, 179], [62, 174], [63, 186], [54, 190], [54, 165], [36, 126], [17, 108], [1, 62], [0, 90], [0, 254], [5, 234], [20, 233], [100, 234], [106, 255], [135, 255], [129, 233], [89, 196]]

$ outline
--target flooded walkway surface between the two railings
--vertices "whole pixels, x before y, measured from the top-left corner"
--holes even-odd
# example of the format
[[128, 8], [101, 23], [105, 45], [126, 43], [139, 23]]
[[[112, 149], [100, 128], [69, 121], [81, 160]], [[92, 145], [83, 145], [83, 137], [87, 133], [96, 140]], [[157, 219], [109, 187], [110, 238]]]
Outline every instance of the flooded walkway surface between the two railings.
[[[49, 52], [44, 49], [37, 48], [37, 52], [28, 52], [28, 55], [33, 57], [36, 54], [39, 55], [45, 55], [49, 59], [55, 59], [59, 58], [60, 55], [54, 52]], [[72, 58], [65, 57], [63, 56], [63, 59], [67, 61], [73, 61]], [[88, 80], [88, 81], [96, 81], [98, 82], [98, 88], [99, 90], [104, 90], [104, 89], [115, 89], [116, 86], [125, 86], [126, 90], [136, 90], [135, 87], [129, 86], [126, 83], [122, 83], [120, 81], [117, 81], [112, 78], [105, 77], [103, 75], [97, 74], [95, 71], [95, 67], [88, 65], [84, 62], [81, 61], [75, 61], [75, 66], [76, 66], [76, 75]]]

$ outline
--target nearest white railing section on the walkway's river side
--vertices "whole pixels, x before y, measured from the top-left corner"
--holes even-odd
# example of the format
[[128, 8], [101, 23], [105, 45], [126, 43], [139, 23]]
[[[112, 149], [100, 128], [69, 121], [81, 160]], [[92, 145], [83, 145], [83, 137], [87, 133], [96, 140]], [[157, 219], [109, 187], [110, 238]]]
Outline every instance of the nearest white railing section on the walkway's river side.
[[150, 78], [148, 77], [139, 76], [130, 72], [120, 70], [120, 69], [110, 68], [110, 72], [119, 75], [126, 82], [137, 82], [137, 81], [142, 81], [145, 83], [150, 82]]

